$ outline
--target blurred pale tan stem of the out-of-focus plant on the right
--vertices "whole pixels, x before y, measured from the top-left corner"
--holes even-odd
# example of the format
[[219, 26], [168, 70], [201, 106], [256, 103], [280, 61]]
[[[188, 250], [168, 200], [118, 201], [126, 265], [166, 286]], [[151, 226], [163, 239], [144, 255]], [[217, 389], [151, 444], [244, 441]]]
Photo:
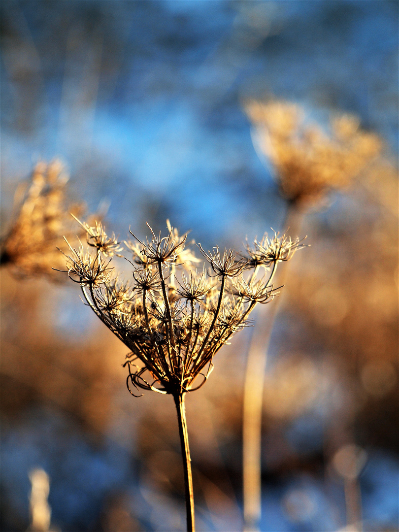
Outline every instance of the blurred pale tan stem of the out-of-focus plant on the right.
[[[284, 226], [290, 233], [300, 226], [301, 214], [288, 204]], [[271, 277], [275, 273], [275, 268]], [[282, 275], [281, 275], [282, 273]], [[284, 284], [287, 264], [280, 271], [278, 282]], [[269, 282], [271, 281], [271, 278]], [[248, 350], [243, 399], [243, 497], [244, 523], [247, 532], [259, 530], [261, 518], [261, 436], [264, 374], [270, 336], [275, 324], [280, 298], [260, 306]]]

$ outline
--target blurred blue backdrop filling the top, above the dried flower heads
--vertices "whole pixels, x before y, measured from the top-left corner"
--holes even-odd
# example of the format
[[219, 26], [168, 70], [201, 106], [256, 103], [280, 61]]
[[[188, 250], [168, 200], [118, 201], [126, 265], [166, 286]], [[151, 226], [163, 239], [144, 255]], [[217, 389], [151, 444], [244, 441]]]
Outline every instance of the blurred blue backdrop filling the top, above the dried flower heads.
[[249, 98], [354, 113], [397, 149], [397, 2], [13, 1], [3, 13], [3, 186], [61, 157], [124, 232], [143, 211], [218, 243], [278, 223]]

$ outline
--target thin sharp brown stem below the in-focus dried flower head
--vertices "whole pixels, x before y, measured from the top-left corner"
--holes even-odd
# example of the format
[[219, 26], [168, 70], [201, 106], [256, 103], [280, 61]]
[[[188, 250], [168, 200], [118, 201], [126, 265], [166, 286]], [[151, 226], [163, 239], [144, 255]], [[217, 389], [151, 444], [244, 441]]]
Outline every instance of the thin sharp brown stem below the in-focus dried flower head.
[[194, 494], [193, 494], [193, 477], [191, 473], [190, 449], [188, 446], [188, 433], [186, 423], [185, 394], [174, 395], [174, 404], [176, 404], [177, 420], [179, 423], [179, 435], [181, 444], [181, 455], [184, 469], [184, 487], [186, 493], [186, 510], [187, 510], [187, 532], [195, 532], [194, 520]]

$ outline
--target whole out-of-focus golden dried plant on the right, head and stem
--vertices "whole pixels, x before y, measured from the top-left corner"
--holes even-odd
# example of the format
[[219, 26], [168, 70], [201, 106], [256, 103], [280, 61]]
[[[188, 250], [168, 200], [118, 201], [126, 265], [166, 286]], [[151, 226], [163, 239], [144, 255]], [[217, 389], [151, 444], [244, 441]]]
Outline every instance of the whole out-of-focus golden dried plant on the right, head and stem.
[[[287, 201], [283, 227], [297, 231], [306, 209], [320, 209], [327, 193], [361, 178], [381, 150], [380, 139], [359, 129], [359, 120], [342, 115], [330, 120], [330, 131], [305, 124], [304, 109], [271, 99], [250, 102], [248, 117], [255, 126], [254, 142], [272, 164], [279, 193]], [[287, 267], [279, 276], [284, 285]], [[263, 310], [263, 309], [262, 309]], [[278, 306], [257, 317], [245, 372], [243, 406], [243, 498], [247, 530], [259, 530], [261, 519], [261, 439], [264, 374]], [[351, 524], [351, 523], [350, 523]]]

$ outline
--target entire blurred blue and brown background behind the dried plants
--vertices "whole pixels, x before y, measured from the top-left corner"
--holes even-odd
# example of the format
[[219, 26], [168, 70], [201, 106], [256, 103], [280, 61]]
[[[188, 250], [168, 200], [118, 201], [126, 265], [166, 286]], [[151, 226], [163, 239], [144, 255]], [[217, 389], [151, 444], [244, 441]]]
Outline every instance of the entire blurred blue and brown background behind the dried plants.
[[[243, 102], [274, 94], [325, 131], [331, 113], [356, 115], [384, 139], [384, 157], [302, 223], [312, 246], [290, 265], [265, 377], [260, 528], [337, 530], [359, 519], [357, 504], [364, 529], [397, 529], [397, 3], [5, 0], [1, 9], [4, 227], [18, 183], [56, 155], [89, 212], [111, 202], [117, 234], [170, 218], [206, 248], [243, 249], [246, 235], [284, 231], [287, 204], [253, 148]], [[77, 292], [10, 272], [2, 268], [2, 529], [28, 528], [29, 472], [41, 468], [52, 527], [181, 530], [173, 405], [158, 394], [132, 402], [126, 350]], [[251, 331], [242, 334], [187, 406], [199, 530], [243, 526]]]

